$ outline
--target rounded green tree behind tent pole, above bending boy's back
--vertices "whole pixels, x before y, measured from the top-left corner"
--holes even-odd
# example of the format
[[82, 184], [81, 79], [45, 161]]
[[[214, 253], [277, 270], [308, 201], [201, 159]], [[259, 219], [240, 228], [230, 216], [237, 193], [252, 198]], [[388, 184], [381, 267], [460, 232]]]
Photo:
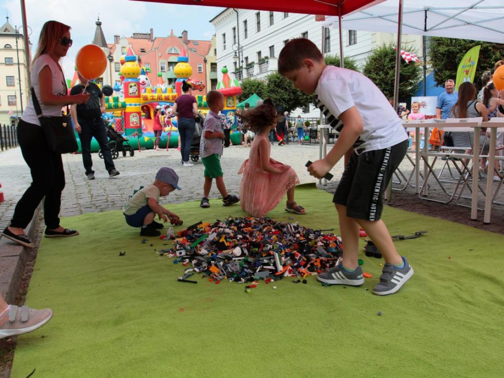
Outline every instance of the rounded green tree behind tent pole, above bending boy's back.
[[[416, 53], [414, 50], [410, 50]], [[392, 43], [383, 44], [372, 50], [367, 57], [362, 73], [382, 90], [387, 97], [394, 96], [396, 76], [396, 50]], [[399, 98], [411, 97], [421, 80], [422, 67], [401, 58], [399, 69]]]

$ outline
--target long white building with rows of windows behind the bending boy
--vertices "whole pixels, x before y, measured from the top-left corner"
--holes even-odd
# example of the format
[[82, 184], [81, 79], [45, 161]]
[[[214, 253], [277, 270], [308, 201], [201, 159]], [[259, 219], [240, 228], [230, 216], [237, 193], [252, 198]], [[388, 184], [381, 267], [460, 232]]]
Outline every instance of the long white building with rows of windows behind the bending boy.
[[[280, 50], [292, 38], [305, 37], [320, 47], [324, 40], [326, 55], [340, 54], [338, 30], [324, 28], [323, 33], [323, 23], [313, 15], [226, 8], [210, 22], [215, 27], [219, 80], [224, 66], [240, 81], [275, 72]], [[343, 54], [362, 67], [373, 47], [396, 40], [393, 33], [344, 30]], [[421, 36], [402, 37], [402, 48], [420, 55], [421, 43]]]

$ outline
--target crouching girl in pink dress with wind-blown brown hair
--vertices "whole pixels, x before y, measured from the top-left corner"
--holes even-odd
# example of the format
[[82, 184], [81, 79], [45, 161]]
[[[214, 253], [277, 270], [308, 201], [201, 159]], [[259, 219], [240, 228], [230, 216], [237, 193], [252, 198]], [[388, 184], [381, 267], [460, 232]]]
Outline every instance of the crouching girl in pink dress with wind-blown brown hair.
[[299, 183], [296, 172], [289, 165], [270, 158], [270, 131], [275, 129], [278, 116], [275, 108], [265, 103], [240, 114], [246, 129], [256, 133], [248, 159], [241, 165], [241, 208], [254, 217], [264, 217], [273, 210], [287, 192], [285, 211], [304, 214], [294, 201], [294, 188]]

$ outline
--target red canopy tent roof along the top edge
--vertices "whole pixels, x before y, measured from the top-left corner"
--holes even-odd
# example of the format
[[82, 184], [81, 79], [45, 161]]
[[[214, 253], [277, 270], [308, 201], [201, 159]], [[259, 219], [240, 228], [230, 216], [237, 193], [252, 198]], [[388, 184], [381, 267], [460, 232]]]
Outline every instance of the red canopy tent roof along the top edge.
[[[253, 9], [256, 11], [274, 11], [306, 13], [312, 15], [344, 16], [361, 11], [384, 0], [135, 0], [150, 3], [167, 3], [180, 5], [199, 5], [207, 7], [224, 7]], [[341, 11], [341, 12], [340, 12]]]

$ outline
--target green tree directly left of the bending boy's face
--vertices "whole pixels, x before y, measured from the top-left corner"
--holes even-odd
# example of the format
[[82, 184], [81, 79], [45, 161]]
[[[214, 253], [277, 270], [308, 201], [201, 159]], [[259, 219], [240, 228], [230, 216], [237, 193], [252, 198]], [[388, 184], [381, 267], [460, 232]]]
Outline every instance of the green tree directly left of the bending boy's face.
[[275, 72], [266, 78], [267, 89], [264, 98], [271, 98], [275, 104], [282, 105], [288, 112], [315, 102], [315, 96], [307, 96], [294, 88], [289, 79]]

